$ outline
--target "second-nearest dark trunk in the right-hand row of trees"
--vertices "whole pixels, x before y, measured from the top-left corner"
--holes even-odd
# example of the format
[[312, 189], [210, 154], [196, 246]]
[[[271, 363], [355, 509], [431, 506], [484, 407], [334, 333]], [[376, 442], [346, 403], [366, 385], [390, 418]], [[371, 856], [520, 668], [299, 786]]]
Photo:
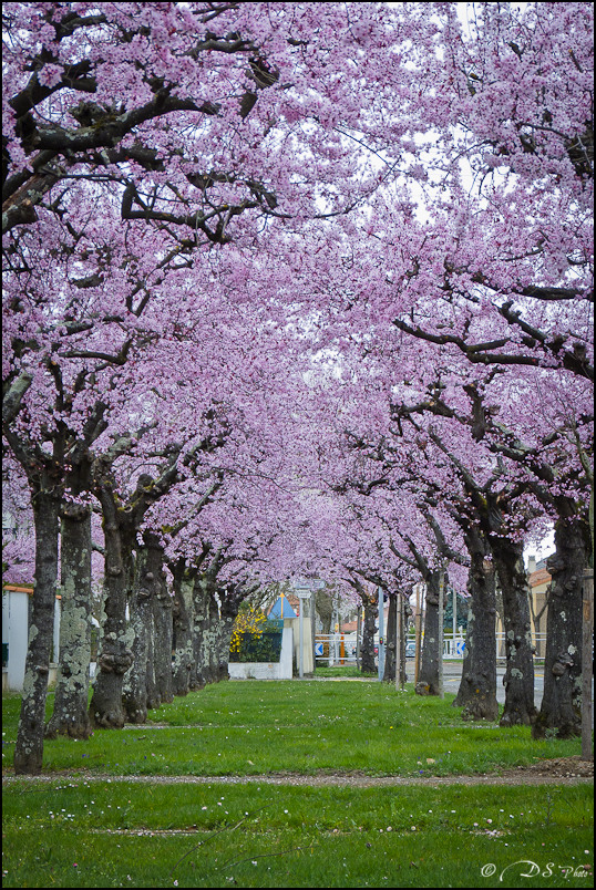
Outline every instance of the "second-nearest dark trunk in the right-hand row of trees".
[[501, 583], [505, 628], [505, 710], [501, 726], [528, 726], [536, 718], [536, 708], [530, 586], [524, 568], [524, 547], [508, 538], [493, 536], [491, 549]]

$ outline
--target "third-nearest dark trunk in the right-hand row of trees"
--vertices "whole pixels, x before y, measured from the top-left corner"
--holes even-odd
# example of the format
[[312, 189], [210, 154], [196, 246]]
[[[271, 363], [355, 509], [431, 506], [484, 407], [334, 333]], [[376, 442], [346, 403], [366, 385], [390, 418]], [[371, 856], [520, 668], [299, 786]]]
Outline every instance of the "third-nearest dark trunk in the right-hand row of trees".
[[470, 553], [470, 611], [462, 680], [453, 705], [463, 707], [463, 720], [495, 721], [499, 704], [494, 565], [486, 538], [479, 528], [469, 527], [464, 537]]

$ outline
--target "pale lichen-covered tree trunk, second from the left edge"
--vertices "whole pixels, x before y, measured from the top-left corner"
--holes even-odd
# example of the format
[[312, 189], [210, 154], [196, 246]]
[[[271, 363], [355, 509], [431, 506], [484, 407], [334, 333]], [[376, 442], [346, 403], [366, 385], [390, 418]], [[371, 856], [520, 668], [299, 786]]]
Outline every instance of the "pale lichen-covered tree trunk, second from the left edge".
[[81, 504], [62, 507], [60, 545], [62, 609], [60, 664], [54, 710], [45, 735], [88, 738], [89, 664], [91, 661], [91, 509]]

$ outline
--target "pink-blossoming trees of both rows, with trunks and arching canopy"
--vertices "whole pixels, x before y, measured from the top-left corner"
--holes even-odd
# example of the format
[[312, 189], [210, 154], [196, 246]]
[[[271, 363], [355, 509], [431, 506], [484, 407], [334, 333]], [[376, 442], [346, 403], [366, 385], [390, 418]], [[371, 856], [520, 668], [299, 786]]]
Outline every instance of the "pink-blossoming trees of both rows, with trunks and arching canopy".
[[[152, 623], [184, 692], [207, 603], [227, 621], [295, 572], [366, 597], [445, 571], [471, 607], [466, 714], [496, 713], [496, 571], [504, 722], [578, 732], [592, 9], [474, 10], [6, 4], [3, 443], [35, 540], [18, 772], [41, 768], [59, 538], [56, 732], [171, 694]], [[536, 717], [522, 549], [546, 520]]]

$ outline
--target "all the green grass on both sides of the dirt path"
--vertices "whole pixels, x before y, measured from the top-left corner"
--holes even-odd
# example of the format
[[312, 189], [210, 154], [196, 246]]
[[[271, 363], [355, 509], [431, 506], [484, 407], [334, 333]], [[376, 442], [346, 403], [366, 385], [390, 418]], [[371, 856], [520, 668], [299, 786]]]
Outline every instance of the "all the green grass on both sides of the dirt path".
[[[593, 862], [590, 786], [259, 782], [271, 773], [463, 775], [579, 753], [578, 742], [464, 724], [452, 697], [376, 683], [220, 683], [151, 712], [152, 724], [49, 741], [45, 770], [70, 777], [4, 788], [3, 886], [593, 886], [592, 869], [582, 869]], [[9, 767], [19, 704], [2, 700]], [[155, 782], [111, 778], [141, 774]], [[157, 782], [168, 775], [248, 782]]]

